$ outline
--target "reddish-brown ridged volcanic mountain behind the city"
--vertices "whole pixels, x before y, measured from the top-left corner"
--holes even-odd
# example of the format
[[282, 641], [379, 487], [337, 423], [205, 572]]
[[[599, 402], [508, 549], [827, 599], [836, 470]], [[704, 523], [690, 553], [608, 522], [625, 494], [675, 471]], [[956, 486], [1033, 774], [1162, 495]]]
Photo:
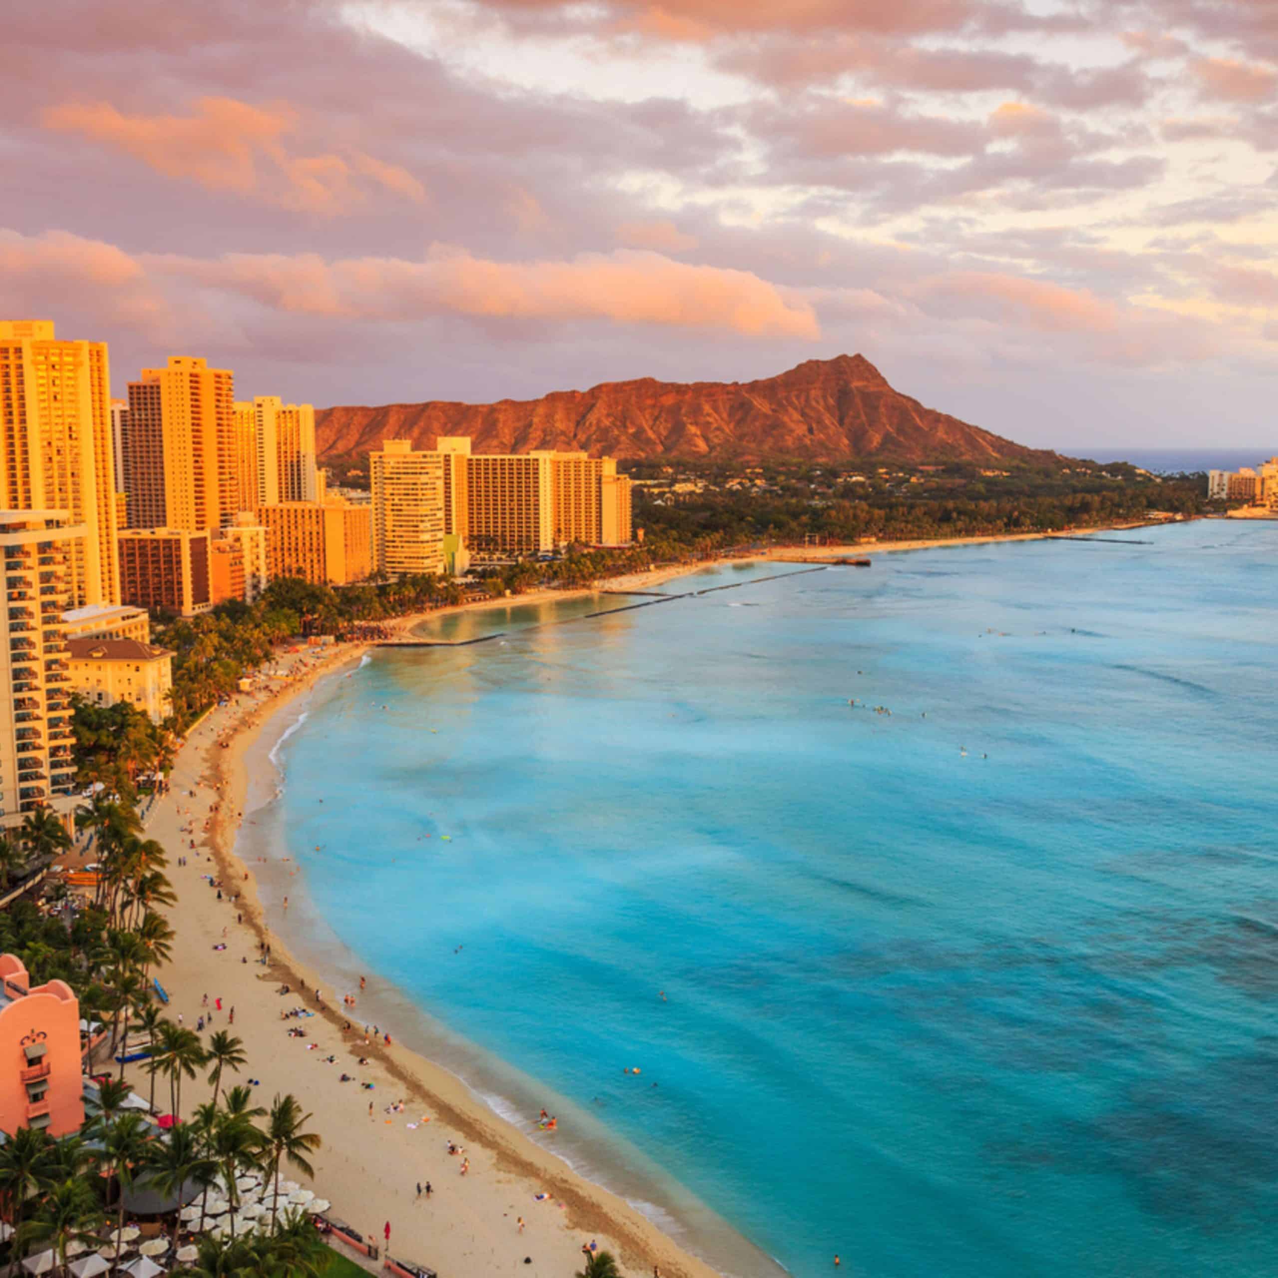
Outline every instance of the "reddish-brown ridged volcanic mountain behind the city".
[[469, 435], [475, 452], [583, 449], [596, 456], [758, 461], [1036, 461], [1026, 449], [893, 390], [863, 355], [809, 359], [757, 382], [604, 382], [497, 404], [387, 404], [316, 413], [322, 460], [354, 460], [382, 440], [435, 446]]

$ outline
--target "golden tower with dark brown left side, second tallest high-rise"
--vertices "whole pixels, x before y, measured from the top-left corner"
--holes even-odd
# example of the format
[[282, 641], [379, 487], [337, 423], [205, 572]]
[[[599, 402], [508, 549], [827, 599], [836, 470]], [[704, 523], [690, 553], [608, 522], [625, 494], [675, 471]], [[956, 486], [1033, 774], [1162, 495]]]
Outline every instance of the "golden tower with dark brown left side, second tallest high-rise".
[[219, 528], [235, 510], [234, 374], [190, 355], [129, 382], [124, 489], [130, 528]]

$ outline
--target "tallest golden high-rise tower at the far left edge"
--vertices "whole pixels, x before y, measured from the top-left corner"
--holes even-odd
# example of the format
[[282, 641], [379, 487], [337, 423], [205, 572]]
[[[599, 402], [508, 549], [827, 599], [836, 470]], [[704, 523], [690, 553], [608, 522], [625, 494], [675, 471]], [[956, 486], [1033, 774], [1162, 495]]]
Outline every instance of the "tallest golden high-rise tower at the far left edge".
[[119, 603], [111, 377], [105, 341], [0, 321], [0, 509], [64, 510], [72, 606]]

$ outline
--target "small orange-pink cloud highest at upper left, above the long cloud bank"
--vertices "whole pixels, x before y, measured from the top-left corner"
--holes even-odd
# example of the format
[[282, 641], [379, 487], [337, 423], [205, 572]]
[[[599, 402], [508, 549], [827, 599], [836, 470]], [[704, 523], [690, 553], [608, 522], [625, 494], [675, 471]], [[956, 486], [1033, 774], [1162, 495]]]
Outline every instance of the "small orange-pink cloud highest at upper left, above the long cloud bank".
[[426, 189], [410, 173], [362, 151], [302, 155], [285, 135], [299, 128], [286, 104], [253, 106], [230, 97], [202, 97], [193, 115], [124, 115], [110, 102], [64, 102], [41, 121], [132, 155], [169, 178], [207, 190], [262, 198], [299, 212], [335, 215], [367, 202], [358, 181], [422, 203]]

